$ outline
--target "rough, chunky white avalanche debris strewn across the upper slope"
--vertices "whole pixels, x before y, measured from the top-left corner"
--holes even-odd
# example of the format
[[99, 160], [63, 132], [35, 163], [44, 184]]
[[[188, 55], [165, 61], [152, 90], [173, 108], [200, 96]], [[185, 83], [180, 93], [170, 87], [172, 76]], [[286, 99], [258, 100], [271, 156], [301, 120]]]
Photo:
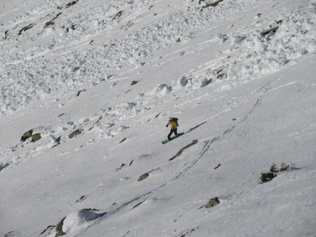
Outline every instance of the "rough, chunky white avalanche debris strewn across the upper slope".
[[[183, 6], [181, 4], [178, 6], [181, 10], [174, 12], [171, 10], [169, 15], [153, 19], [147, 26], [136, 28], [131, 33], [129, 30], [126, 33], [124, 30], [119, 30], [114, 37], [109, 38], [107, 36], [108, 28], [118, 29], [129, 21], [128, 19], [136, 21], [139, 16], [145, 20], [148, 16], [141, 14], [140, 9], [150, 4], [163, 5], [166, 3], [153, 1], [144, 5], [142, 2], [111, 2], [97, 7], [97, 11], [93, 11], [92, 14], [81, 7], [89, 6], [93, 9], [94, 4], [98, 2], [83, 3], [79, 1], [73, 7], [60, 9], [59, 11], [63, 14], [55, 20], [56, 23], [52, 27], [41, 29], [42, 23], [50, 19], [44, 17], [45, 19], [36, 22], [35, 26], [25, 32], [22, 37], [16, 37], [9, 31], [7, 39], [1, 42], [5, 50], [2, 51], [2, 55], [11, 55], [9, 58], [4, 56], [5, 61], [1, 62], [2, 70], [10, 72], [9, 74], [4, 73], [1, 79], [3, 83], [0, 98], [1, 113], [2, 115], [12, 113], [40, 98], [68, 91], [87, 81], [102, 79], [109, 71], [119, 70], [130, 64], [138, 67], [137, 64], [140, 60], [147, 61], [146, 58], [158, 55], [163, 49], [168, 47], [172, 49], [177, 44], [175, 41], [179, 37], [184, 42], [190, 41], [198, 35], [198, 32], [216, 26], [216, 22], [254, 2], [256, 0], [243, 1], [238, 4], [233, 1], [224, 1], [216, 8], [205, 8], [203, 11], [200, 10], [197, 3], [183, 3]], [[32, 14], [35, 15], [37, 11], [40, 11], [39, 7], [51, 11], [57, 6], [63, 6], [62, 2], [54, 3], [52, 1], [42, 4], [42, 6], [30, 10], [29, 14], [21, 16], [21, 19], [31, 22]], [[186, 9], [187, 6], [191, 8]], [[74, 15], [74, 8], [76, 11], [80, 11], [79, 15]], [[167, 6], [165, 8], [168, 9]], [[124, 9], [123, 15], [113, 21], [113, 15], [120, 9]], [[54, 10], [56, 11], [56, 9]], [[139, 16], [136, 14], [138, 12]], [[51, 15], [55, 16], [55, 13], [51, 13]], [[249, 14], [255, 15], [252, 12]], [[302, 14], [304, 17], [301, 16]], [[218, 61], [217, 65], [219, 67], [228, 65], [226, 75], [229, 80], [236, 81], [236, 83], [240, 80], [258, 78], [280, 69], [290, 60], [314, 50], [315, 42], [312, 41], [311, 34], [315, 30], [315, 25], [312, 25], [312, 21], [305, 21], [306, 17], [308, 18], [311, 14], [313, 14], [312, 6], [295, 13], [282, 14], [280, 17], [283, 18], [283, 23], [278, 30], [280, 33], [276, 34], [277, 39], [273, 40], [260, 37], [259, 31], [268, 27], [278, 18], [266, 19], [262, 16], [261, 18], [264, 20], [259, 19], [259, 22], [255, 24], [246, 23], [244, 27], [249, 30], [233, 31], [228, 36], [226, 44], [230, 42], [230, 46], [233, 47], [229, 54], [225, 51], [218, 52], [219, 55], [227, 55], [227, 57]], [[74, 17], [70, 18], [72, 15]], [[104, 19], [102, 20], [104, 23], [101, 24], [100, 20], [96, 19]], [[136, 24], [140, 24], [140, 22], [135, 22], [134, 25], [136, 26]], [[24, 26], [22, 23], [14, 25], [17, 28]], [[7, 25], [6, 28], [9, 26], [13, 28], [14, 25]], [[74, 30], [66, 30], [66, 28], [72, 28], [71, 25], [76, 25], [73, 27]], [[297, 25], [300, 25], [301, 28], [298, 28]], [[302, 30], [295, 32], [296, 30], [291, 30], [293, 28]], [[309, 28], [310, 30], [303, 30]], [[34, 34], [33, 31], [34, 33], [39, 32], [40, 35]], [[98, 31], [100, 32], [98, 33]], [[95, 37], [96, 34], [98, 37]], [[237, 34], [241, 34], [241, 36]], [[296, 35], [296, 37], [291, 39], [292, 35]], [[106, 40], [100, 39], [100, 36]], [[49, 40], [50, 38], [53, 39]], [[92, 42], [93, 40], [96, 42]], [[286, 42], [287, 40], [289, 42]], [[31, 41], [34, 46], [29, 46]], [[284, 43], [288, 44], [285, 50]], [[296, 48], [301, 45], [305, 45], [305, 48], [297, 51]], [[247, 49], [245, 50], [245, 48]], [[274, 50], [275, 48], [278, 50]], [[232, 54], [240, 53], [239, 59], [232, 58]], [[253, 61], [252, 58], [261, 58], [261, 60]], [[208, 83], [207, 81], [209, 82], [209, 79], [197, 82], [201, 83], [198, 87]], [[191, 83], [187, 87], [190, 85]], [[195, 85], [191, 85], [191, 87], [195, 88]]]

